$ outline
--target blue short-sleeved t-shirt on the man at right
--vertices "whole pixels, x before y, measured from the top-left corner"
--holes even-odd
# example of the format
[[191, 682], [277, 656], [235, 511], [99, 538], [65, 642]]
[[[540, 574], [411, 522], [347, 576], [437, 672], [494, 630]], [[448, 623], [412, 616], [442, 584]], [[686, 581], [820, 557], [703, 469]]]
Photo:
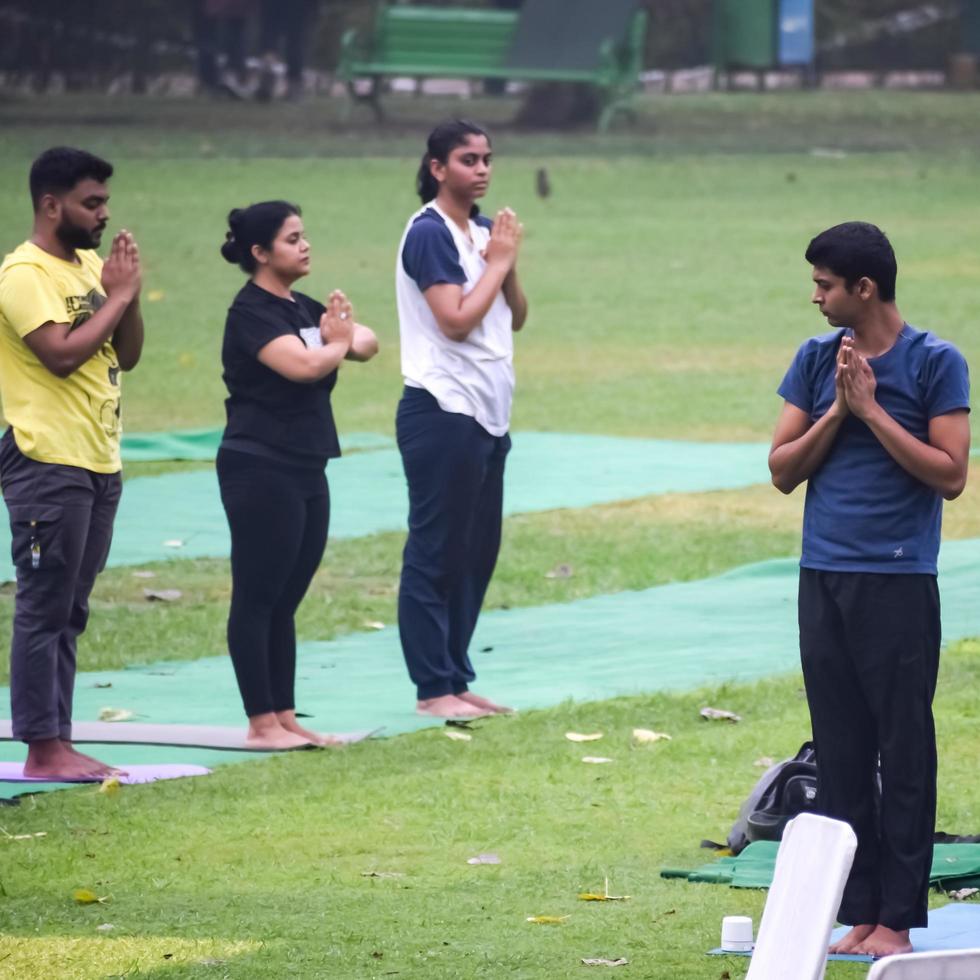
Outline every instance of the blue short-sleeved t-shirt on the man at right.
[[[841, 338], [835, 330], [807, 340], [779, 394], [813, 422], [834, 403]], [[879, 405], [923, 442], [929, 420], [970, 409], [963, 355], [934, 334], [902, 328], [894, 347], [869, 358]], [[820, 468], [807, 481], [804, 568], [834, 572], [936, 574], [942, 497], [902, 469], [860, 419], [844, 419]]]

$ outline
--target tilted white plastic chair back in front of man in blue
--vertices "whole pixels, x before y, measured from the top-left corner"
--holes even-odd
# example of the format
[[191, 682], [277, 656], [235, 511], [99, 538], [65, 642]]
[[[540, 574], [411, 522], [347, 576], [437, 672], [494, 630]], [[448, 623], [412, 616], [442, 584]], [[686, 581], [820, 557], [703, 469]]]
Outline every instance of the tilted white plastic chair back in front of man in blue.
[[801, 813], [786, 825], [746, 980], [823, 980], [856, 849], [841, 820]]

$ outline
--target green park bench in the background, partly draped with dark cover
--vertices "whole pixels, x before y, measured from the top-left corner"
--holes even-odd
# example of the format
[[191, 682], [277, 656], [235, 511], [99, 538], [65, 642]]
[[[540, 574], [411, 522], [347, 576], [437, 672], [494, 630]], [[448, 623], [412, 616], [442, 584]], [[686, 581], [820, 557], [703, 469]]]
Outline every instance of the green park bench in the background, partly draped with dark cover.
[[337, 77], [348, 108], [366, 101], [379, 120], [386, 77], [581, 82], [599, 95], [605, 130], [617, 112], [632, 114], [646, 27], [635, 0], [526, 0], [519, 11], [381, 3], [370, 36], [344, 34]]

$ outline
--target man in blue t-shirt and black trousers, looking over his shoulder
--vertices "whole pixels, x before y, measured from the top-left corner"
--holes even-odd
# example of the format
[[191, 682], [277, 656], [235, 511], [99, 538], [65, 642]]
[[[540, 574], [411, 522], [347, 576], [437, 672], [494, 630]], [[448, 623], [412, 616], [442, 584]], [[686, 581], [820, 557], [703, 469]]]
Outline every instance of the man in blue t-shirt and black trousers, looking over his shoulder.
[[[786, 372], [769, 469], [806, 482], [800, 657], [820, 812], [858, 839], [832, 952], [908, 952], [926, 925], [936, 811], [932, 697], [943, 500], [966, 484], [970, 383], [951, 344], [895, 305], [895, 253], [874, 225], [810, 242], [813, 302], [833, 327]], [[881, 765], [881, 802], [876, 767]]]

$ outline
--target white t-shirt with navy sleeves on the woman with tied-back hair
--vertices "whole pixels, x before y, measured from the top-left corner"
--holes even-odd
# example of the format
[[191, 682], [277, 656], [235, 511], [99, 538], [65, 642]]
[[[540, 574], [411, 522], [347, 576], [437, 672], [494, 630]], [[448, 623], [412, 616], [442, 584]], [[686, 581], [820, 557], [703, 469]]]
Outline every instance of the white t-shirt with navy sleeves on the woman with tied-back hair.
[[443, 411], [469, 415], [502, 436], [514, 394], [513, 317], [503, 291], [465, 340], [450, 340], [439, 329], [423, 295], [436, 283], [469, 293], [486, 269], [480, 253], [491, 227], [478, 215], [470, 219], [467, 237], [434, 201], [417, 211], [398, 247], [395, 296], [405, 384], [425, 388]]

